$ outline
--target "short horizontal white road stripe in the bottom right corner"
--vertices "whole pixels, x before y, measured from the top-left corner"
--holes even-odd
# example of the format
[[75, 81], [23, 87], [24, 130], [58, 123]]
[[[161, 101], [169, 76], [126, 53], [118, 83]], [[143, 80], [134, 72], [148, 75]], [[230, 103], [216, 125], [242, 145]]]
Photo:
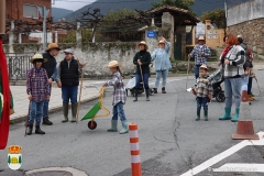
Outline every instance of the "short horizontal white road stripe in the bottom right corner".
[[212, 172], [264, 173], [264, 164], [227, 163]]

